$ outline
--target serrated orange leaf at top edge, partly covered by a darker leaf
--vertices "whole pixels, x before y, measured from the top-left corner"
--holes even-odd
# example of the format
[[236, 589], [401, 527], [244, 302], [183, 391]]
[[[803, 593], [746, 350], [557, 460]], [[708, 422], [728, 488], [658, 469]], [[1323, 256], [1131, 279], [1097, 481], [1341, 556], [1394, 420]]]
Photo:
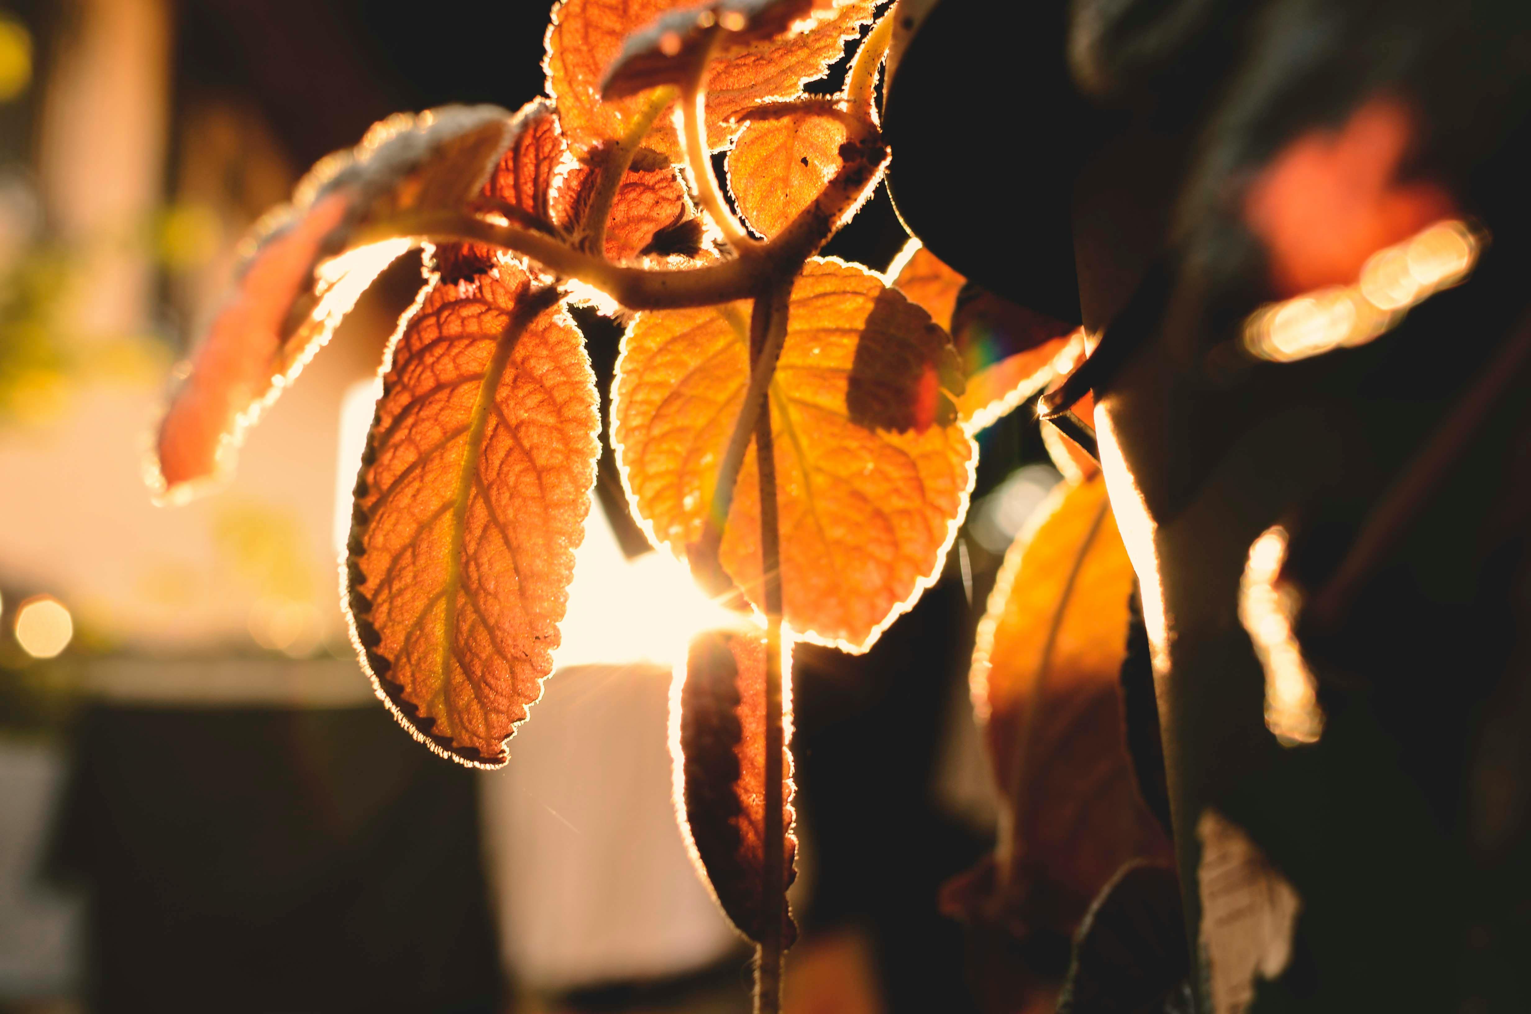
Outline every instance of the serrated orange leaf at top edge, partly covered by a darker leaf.
[[[548, 93], [557, 103], [559, 123], [576, 156], [583, 158], [602, 141], [622, 138], [648, 101], [643, 95], [600, 100], [602, 78], [628, 37], [686, 6], [684, 0], [563, 0], [553, 9], [544, 67]], [[713, 150], [727, 147], [739, 132], [736, 115], [761, 103], [793, 98], [804, 81], [822, 77], [844, 54], [845, 41], [871, 21], [874, 8], [876, 0], [816, 0], [785, 35], [723, 49], [707, 70], [707, 144]], [[787, 9], [792, 8], [782, 8]], [[672, 159], [680, 155], [680, 139], [668, 115], [660, 116], [645, 142]]]

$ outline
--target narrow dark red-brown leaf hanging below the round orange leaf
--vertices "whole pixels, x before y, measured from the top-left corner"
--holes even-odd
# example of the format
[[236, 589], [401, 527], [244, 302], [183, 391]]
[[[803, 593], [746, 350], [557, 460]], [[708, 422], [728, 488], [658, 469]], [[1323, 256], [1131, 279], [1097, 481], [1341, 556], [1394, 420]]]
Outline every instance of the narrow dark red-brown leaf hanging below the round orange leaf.
[[[671, 689], [671, 760], [675, 813], [713, 898], [733, 927], [761, 942], [766, 904], [761, 864], [766, 827], [766, 636], [759, 631], [706, 631], [692, 639], [686, 668]], [[790, 651], [782, 659], [782, 829], [785, 884], [796, 878], [793, 835]], [[785, 905], [785, 902], [784, 902]], [[798, 930], [792, 914], [784, 942]]]

